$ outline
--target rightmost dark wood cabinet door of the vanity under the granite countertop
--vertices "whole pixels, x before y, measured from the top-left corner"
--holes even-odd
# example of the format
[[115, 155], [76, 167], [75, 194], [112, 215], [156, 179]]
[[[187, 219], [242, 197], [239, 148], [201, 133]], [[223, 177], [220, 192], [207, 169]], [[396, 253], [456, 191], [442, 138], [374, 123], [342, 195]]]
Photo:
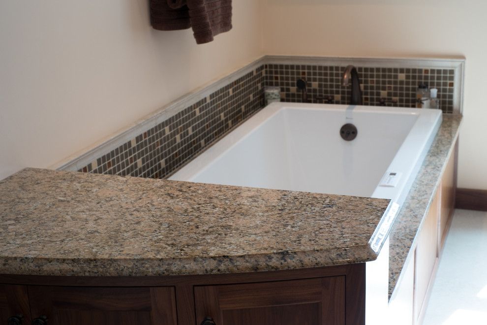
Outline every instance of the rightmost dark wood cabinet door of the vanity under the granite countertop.
[[[196, 324], [343, 325], [345, 277], [195, 287]], [[211, 324], [211, 323], [209, 323]]]

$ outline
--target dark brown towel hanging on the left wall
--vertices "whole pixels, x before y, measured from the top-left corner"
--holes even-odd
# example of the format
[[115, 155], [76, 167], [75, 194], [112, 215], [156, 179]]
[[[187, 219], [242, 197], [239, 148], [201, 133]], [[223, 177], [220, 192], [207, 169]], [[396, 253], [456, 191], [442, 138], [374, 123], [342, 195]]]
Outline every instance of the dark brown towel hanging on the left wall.
[[193, 28], [197, 44], [232, 29], [232, 0], [151, 0], [151, 24], [160, 31]]

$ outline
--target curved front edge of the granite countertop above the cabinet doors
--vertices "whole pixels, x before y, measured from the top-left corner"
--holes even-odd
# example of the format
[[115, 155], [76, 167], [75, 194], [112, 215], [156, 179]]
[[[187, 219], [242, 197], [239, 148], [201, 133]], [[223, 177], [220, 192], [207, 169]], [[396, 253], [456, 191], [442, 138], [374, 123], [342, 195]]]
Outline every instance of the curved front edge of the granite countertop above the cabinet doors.
[[[350, 250], [349, 250], [350, 251]], [[0, 275], [33, 276], [180, 276], [297, 270], [362, 263], [377, 259], [367, 245], [326, 252], [278, 252], [253, 256], [186, 259], [43, 259], [1, 257]]]

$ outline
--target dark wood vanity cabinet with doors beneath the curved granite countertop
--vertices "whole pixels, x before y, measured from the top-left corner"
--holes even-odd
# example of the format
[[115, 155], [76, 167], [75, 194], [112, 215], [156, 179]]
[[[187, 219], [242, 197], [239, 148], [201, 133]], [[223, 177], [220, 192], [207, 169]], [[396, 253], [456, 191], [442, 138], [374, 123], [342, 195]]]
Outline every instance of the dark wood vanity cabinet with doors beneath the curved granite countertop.
[[1, 325], [365, 324], [365, 263], [201, 276], [4, 275], [0, 282]]

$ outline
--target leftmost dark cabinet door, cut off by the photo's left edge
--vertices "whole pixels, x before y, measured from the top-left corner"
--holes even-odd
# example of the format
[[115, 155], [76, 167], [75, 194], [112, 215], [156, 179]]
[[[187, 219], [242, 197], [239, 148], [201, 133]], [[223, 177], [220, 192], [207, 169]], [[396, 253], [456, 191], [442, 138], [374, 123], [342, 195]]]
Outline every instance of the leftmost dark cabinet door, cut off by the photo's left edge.
[[15, 318], [20, 324], [30, 324], [29, 298], [26, 286], [0, 285], [0, 325], [15, 324]]

